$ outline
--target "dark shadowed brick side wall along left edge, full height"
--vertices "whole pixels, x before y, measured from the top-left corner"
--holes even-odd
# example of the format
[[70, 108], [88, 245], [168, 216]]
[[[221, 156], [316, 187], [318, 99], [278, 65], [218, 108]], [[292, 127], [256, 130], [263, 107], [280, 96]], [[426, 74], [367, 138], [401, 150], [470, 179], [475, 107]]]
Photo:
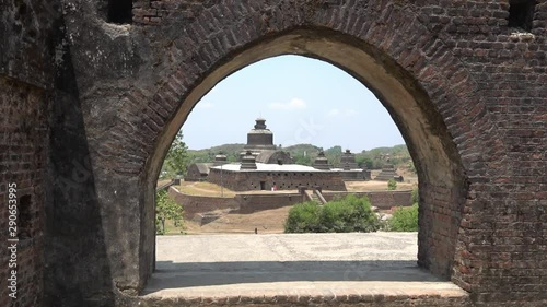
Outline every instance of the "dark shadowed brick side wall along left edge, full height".
[[[59, 1], [0, 3], [0, 306], [40, 306], [54, 46]], [[54, 29], [55, 27], [55, 29]], [[9, 185], [18, 186], [18, 295], [8, 296]], [[22, 228], [21, 228], [22, 227]]]

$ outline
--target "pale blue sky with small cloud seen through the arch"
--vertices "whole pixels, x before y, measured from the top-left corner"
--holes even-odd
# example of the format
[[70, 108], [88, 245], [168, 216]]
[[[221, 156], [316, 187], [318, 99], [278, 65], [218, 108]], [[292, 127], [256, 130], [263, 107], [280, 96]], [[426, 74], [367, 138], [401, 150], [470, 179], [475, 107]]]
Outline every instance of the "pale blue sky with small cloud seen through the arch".
[[354, 78], [327, 62], [279, 56], [219, 82], [182, 127], [190, 150], [246, 143], [255, 119], [266, 119], [274, 143], [310, 143], [361, 152], [405, 141], [382, 103]]

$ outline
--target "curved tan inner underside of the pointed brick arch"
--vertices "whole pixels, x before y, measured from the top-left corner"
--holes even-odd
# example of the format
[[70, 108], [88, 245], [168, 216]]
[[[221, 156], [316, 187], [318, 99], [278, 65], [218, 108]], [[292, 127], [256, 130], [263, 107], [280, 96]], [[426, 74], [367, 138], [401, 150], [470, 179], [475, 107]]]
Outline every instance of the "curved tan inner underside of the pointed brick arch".
[[[186, 96], [160, 137], [146, 167], [144, 246], [153, 245], [153, 198], [161, 165], [176, 132], [193, 107], [217, 83], [251, 63], [280, 55], [300, 55], [329, 62], [371, 90], [399, 128], [420, 182], [418, 263], [433, 274], [451, 278], [465, 202], [466, 181], [455, 144], [428, 94], [411, 74], [377, 48], [324, 31], [293, 31], [258, 42], [216, 67]], [[153, 249], [152, 249], [153, 250]], [[150, 252], [150, 249], [147, 249]], [[143, 259], [153, 259], [153, 256]], [[146, 261], [146, 260], [144, 260]], [[153, 263], [144, 263], [150, 268]]]

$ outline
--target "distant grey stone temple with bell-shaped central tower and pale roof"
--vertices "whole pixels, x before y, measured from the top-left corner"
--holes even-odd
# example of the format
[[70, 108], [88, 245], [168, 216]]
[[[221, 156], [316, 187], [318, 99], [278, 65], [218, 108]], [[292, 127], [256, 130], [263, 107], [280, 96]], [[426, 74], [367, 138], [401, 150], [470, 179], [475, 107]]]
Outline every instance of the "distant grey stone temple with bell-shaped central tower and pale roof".
[[[224, 157], [224, 160], [220, 160]], [[300, 187], [345, 191], [345, 180], [368, 180], [370, 172], [361, 169], [349, 150], [339, 168], [333, 167], [321, 152], [314, 166], [294, 164], [289, 153], [274, 144], [274, 132], [266, 128], [266, 119], [257, 118], [247, 133], [247, 144], [240, 162], [228, 164], [225, 156], [217, 155], [214, 163], [195, 163], [188, 167], [186, 180], [208, 180], [234, 191], [295, 190]]]

